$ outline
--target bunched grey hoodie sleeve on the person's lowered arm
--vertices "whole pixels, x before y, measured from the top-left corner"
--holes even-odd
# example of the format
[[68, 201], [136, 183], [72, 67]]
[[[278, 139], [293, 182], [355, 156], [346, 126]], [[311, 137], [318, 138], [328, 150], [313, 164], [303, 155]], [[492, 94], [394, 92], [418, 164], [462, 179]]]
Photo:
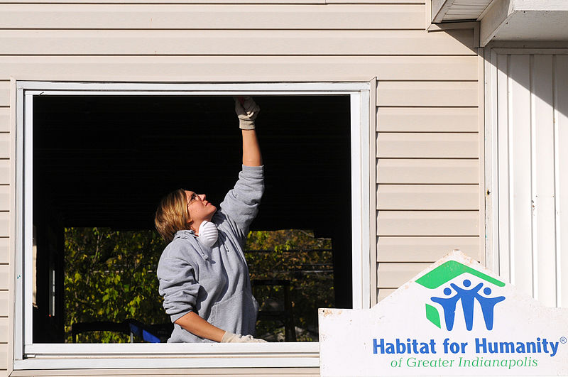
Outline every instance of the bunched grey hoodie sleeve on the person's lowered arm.
[[164, 297], [163, 307], [172, 322], [194, 311], [200, 285], [190, 263], [180, 258], [160, 259], [158, 280], [158, 292]]

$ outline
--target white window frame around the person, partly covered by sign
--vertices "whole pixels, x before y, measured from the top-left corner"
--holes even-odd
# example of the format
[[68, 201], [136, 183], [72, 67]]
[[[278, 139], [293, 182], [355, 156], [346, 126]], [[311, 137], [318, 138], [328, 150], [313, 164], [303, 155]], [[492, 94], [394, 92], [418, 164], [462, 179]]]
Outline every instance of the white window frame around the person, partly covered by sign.
[[[268, 344], [33, 344], [32, 206], [33, 97], [58, 95], [349, 95], [351, 99], [351, 216], [353, 307], [371, 305], [369, 182], [371, 84], [157, 84], [16, 82], [16, 286], [13, 369], [317, 367], [319, 343]], [[374, 294], [374, 293], [373, 293]], [[225, 357], [223, 357], [225, 356]]]

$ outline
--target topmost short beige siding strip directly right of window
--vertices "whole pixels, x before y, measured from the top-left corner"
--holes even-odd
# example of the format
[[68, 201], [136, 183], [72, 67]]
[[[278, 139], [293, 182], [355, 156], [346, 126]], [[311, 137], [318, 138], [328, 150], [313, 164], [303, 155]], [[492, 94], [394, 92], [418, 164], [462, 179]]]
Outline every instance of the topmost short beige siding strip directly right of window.
[[477, 106], [478, 89], [475, 81], [381, 81], [377, 84], [377, 106]]

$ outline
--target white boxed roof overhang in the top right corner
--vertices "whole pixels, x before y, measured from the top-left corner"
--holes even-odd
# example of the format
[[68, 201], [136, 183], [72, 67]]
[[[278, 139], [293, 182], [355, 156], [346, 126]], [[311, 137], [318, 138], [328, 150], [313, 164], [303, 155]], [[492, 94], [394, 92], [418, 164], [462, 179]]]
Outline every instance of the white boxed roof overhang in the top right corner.
[[[540, 21], [543, 13], [547, 23]], [[555, 17], [551, 25], [552, 15]], [[528, 22], [531, 18], [533, 22]], [[481, 18], [481, 45], [491, 40], [513, 40], [513, 36], [523, 40], [565, 40], [562, 31], [566, 23], [566, 0], [496, 0]]]

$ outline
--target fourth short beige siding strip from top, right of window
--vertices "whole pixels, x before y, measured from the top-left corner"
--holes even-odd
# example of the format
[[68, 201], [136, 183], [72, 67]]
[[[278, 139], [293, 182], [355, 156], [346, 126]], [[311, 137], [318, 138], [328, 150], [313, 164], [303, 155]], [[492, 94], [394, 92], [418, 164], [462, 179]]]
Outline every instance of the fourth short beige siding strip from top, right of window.
[[479, 184], [479, 160], [377, 160], [377, 183]]

